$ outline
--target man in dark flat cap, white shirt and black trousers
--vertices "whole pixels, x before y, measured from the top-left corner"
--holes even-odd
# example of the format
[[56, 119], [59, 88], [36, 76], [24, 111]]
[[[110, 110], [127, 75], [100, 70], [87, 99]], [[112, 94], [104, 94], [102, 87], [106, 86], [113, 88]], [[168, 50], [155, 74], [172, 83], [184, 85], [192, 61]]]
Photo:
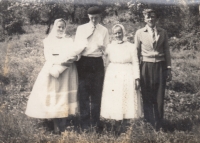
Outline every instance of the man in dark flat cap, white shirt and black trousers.
[[77, 47], [84, 49], [77, 62], [79, 77], [80, 122], [83, 129], [99, 124], [101, 94], [104, 80], [103, 51], [109, 43], [107, 28], [99, 24], [101, 10], [88, 9], [89, 22], [78, 26], [75, 36]]

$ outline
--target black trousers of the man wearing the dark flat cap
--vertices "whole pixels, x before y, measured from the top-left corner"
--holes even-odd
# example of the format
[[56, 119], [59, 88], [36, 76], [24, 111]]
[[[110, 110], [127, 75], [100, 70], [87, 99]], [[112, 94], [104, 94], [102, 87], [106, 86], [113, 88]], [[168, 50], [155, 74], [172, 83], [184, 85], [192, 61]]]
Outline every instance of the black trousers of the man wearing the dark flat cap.
[[102, 57], [84, 57], [76, 63], [79, 86], [80, 122], [82, 126], [98, 124], [104, 80]]

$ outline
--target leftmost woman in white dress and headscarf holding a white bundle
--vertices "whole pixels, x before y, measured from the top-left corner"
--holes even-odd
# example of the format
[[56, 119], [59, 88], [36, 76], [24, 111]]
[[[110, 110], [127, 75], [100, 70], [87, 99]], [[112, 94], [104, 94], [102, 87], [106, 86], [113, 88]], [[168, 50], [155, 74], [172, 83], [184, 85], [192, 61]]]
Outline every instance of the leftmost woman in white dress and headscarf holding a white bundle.
[[[73, 48], [73, 40], [65, 35], [66, 22], [57, 19], [50, 34], [43, 40], [45, 64], [40, 71], [30, 94], [25, 114], [42, 119], [54, 119], [54, 131], [59, 133], [65, 126], [65, 117], [75, 115], [77, 104], [77, 70], [68, 58], [68, 51]], [[62, 70], [60, 68], [66, 66]], [[59, 71], [55, 76], [52, 70]]]

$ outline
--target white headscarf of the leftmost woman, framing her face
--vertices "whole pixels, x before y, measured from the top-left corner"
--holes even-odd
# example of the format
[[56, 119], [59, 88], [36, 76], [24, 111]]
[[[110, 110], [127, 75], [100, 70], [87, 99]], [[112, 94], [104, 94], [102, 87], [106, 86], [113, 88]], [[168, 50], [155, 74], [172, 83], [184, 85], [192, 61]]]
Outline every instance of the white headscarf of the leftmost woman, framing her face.
[[64, 19], [62, 19], [62, 18], [59, 18], [59, 19], [56, 19], [55, 21], [54, 21], [54, 24], [53, 24], [53, 28], [52, 28], [52, 30], [51, 30], [51, 32], [49, 33], [49, 35], [47, 36], [47, 38], [49, 39], [49, 38], [55, 38], [55, 37], [57, 37], [58, 36], [58, 33], [57, 33], [57, 24], [58, 24], [58, 22], [64, 22], [65, 23], [65, 29], [64, 29], [64, 32], [63, 32], [63, 34], [62, 35], [59, 35], [59, 37], [65, 37], [65, 30], [66, 30], [66, 21], [64, 20]]

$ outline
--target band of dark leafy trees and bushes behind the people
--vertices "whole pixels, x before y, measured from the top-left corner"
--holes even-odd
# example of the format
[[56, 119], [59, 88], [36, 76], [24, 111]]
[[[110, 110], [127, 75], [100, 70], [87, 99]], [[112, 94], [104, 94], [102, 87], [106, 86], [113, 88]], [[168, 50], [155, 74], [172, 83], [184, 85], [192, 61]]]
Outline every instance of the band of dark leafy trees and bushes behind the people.
[[[0, 1], [0, 18], [4, 33], [23, 33], [25, 24], [45, 24], [47, 31], [57, 18], [64, 18], [70, 23], [83, 24], [88, 22], [87, 9], [98, 5], [102, 13], [102, 21], [107, 17], [116, 17], [117, 22], [143, 22], [144, 8], [157, 9], [159, 23], [168, 31], [169, 37], [179, 37], [181, 31], [198, 30], [198, 3], [191, 1], [158, 1], [153, 0], [47, 0], [47, 1]], [[105, 23], [106, 24], [106, 23]], [[1, 30], [0, 30], [1, 31]], [[3, 36], [1, 39], [5, 39]]]

